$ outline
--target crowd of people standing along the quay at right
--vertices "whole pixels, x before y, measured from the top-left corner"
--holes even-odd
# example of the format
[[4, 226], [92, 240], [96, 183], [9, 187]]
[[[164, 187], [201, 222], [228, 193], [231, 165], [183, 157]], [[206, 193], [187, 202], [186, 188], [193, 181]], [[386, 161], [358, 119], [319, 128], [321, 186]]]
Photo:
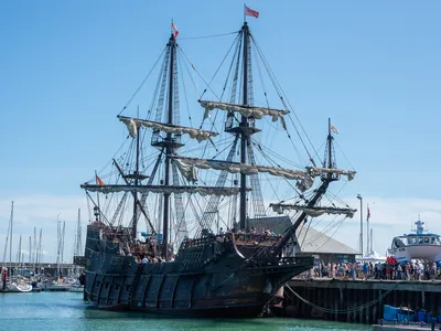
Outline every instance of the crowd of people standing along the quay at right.
[[312, 278], [340, 279], [388, 279], [388, 280], [430, 280], [441, 279], [441, 267], [437, 263], [408, 261], [356, 261], [329, 263], [315, 260], [314, 267], [303, 275]]

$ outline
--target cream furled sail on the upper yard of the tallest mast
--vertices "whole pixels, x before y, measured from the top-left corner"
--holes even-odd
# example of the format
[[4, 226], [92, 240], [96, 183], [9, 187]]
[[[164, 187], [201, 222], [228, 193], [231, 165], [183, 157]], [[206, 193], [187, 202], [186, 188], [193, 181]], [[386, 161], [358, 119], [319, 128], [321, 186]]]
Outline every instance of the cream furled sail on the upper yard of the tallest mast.
[[260, 119], [263, 116], [271, 116], [272, 121], [276, 121], [280, 118], [283, 128], [286, 128], [283, 115], [289, 114], [288, 110], [279, 110], [272, 108], [265, 108], [265, 107], [254, 107], [254, 106], [245, 106], [245, 105], [235, 105], [228, 103], [217, 103], [217, 102], [207, 102], [207, 100], [200, 100], [201, 106], [205, 108], [204, 119], [208, 117], [208, 114], [213, 109], [220, 109], [225, 111], [235, 111], [239, 113], [245, 117], [252, 117]]

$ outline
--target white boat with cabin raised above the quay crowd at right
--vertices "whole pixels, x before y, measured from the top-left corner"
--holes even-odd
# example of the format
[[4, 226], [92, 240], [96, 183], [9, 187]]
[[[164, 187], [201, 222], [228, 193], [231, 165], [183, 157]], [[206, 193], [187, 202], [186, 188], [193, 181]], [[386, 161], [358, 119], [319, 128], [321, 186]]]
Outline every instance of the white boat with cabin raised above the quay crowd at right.
[[398, 263], [406, 263], [412, 259], [441, 263], [441, 236], [428, 233], [424, 229], [424, 222], [415, 222], [415, 233], [404, 234], [392, 239], [388, 255]]

